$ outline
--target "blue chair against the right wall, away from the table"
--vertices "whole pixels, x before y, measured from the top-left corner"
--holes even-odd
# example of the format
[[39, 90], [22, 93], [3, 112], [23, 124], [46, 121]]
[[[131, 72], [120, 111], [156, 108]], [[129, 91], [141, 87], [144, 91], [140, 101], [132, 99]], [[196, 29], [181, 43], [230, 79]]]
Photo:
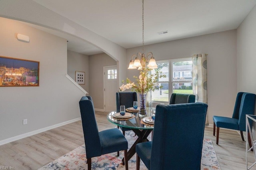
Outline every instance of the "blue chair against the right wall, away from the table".
[[255, 94], [239, 92], [236, 96], [236, 103], [232, 118], [213, 116], [213, 135], [215, 136], [215, 129], [217, 127], [216, 144], [219, 143], [219, 131], [221, 128], [229, 128], [240, 130], [242, 140], [244, 141], [243, 131], [246, 131], [246, 114], [254, 115]]

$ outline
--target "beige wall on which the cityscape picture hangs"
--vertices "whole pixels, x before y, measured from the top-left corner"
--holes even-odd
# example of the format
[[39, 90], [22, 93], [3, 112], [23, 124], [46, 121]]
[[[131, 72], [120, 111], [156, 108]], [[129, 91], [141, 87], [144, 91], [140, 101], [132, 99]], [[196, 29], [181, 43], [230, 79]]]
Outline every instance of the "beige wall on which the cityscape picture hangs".
[[[0, 87], [0, 142], [80, 118], [84, 93], [66, 78], [67, 41], [6, 18], [0, 25], [0, 56], [40, 61], [39, 87]], [[30, 42], [18, 41], [17, 33]]]

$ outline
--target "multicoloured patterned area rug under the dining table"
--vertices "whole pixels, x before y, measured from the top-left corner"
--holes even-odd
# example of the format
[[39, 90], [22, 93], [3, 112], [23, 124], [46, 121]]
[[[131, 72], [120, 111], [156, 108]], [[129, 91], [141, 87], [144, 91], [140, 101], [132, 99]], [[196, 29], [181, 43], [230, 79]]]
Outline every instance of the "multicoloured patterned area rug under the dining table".
[[[150, 136], [151, 135], [148, 137], [149, 140]], [[126, 131], [125, 137], [128, 140], [128, 148], [130, 148], [137, 139], [137, 136], [134, 136], [134, 132], [132, 131]], [[123, 152], [120, 151], [120, 156], [116, 156], [116, 154], [117, 152], [114, 152], [92, 158], [92, 169], [124, 170], [125, 168], [122, 165]], [[128, 161], [128, 166], [130, 170], [136, 169], [136, 154]], [[72, 150], [39, 170], [87, 170], [85, 146], [82, 145]], [[142, 161], [140, 161], [140, 170], [147, 170]], [[212, 141], [209, 139], [204, 139], [203, 142], [201, 170], [220, 170]]]

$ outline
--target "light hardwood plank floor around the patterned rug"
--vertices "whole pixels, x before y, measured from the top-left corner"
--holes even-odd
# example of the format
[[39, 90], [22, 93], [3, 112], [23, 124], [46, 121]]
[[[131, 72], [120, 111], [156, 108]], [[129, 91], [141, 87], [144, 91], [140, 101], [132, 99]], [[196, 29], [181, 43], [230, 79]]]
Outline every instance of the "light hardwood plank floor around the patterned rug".
[[[107, 121], [106, 115], [104, 112], [96, 112], [99, 131], [116, 127]], [[212, 140], [222, 170], [246, 169], [246, 142], [242, 141], [237, 131], [221, 128], [219, 145], [216, 145], [213, 128], [206, 126], [204, 138]], [[82, 144], [82, 124], [77, 121], [0, 146], [0, 166], [36, 170]], [[253, 152], [249, 152], [249, 155], [252, 164]], [[256, 165], [251, 169], [255, 170]]]

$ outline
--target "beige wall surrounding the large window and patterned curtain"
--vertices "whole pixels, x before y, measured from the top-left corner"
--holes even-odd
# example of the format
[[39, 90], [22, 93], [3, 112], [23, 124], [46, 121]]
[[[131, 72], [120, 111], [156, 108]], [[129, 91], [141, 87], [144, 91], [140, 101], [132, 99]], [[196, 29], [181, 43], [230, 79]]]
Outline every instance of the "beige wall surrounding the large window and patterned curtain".
[[[130, 48], [126, 51], [128, 67], [131, 56], [142, 51], [142, 47]], [[146, 45], [145, 51], [152, 51], [157, 61], [208, 53], [208, 121], [213, 124], [213, 115], [232, 116], [237, 93], [236, 30]], [[138, 75], [138, 71], [127, 70], [127, 77], [133, 79], [133, 75]]]

